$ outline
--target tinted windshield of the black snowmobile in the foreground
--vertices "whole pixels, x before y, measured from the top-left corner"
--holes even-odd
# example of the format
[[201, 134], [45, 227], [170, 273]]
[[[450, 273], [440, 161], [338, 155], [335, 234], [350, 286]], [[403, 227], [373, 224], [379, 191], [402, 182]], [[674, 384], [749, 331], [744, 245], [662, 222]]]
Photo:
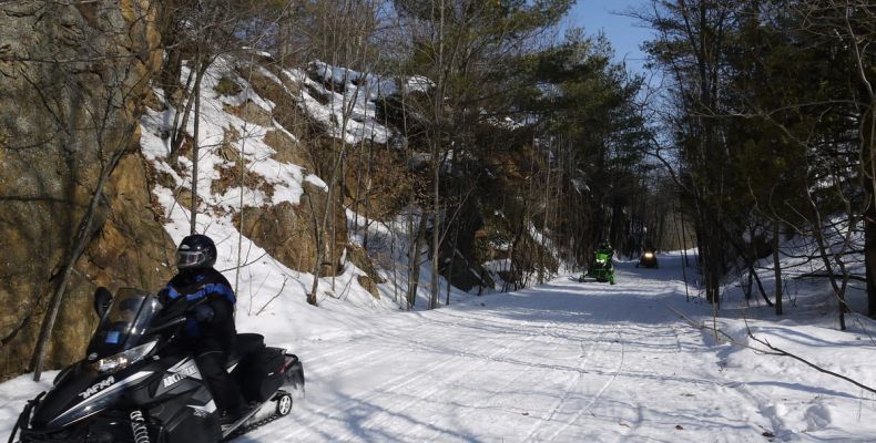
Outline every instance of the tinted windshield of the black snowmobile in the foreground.
[[89, 343], [89, 360], [116, 354], [139, 344], [161, 309], [159, 299], [133, 288], [119, 289]]

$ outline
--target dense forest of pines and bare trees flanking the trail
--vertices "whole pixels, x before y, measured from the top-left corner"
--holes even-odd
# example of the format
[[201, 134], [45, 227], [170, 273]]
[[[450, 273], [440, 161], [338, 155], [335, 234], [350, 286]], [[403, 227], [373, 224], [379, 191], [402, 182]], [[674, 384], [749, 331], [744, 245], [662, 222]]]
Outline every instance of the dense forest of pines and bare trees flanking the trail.
[[[654, 31], [644, 49], [659, 83], [614, 62], [599, 34], [560, 34], [570, 7], [258, 2], [207, 21], [263, 23], [224, 33], [246, 34], [284, 65], [316, 59], [431, 82], [425, 94], [390, 96], [380, 115], [401, 130], [404, 156], [425, 159], [393, 199], [425, 209], [419, 235], [430, 241], [432, 277], [444, 272], [444, 243], [480, 222], [477, 241], [508, 245], [503, 280], [515, 288], [544, 281], [561, 262], [585, 265], [602, 239], [627, 256], [646, 244], [695, 247], [710, 302], [720, 306], [736, 275], [781, 315], [781, 267], [774, 288], [754, 267], [770, 256], [778, 264], [780, 243], [798, 236], [815, 269], [803, 277], [829, 280], [841, 322], [850, 281], [866, 281], [876, 313], [874, 6], [703, 0], [619, 11]], [[375, 148], [349, 147], [369, 158]], [[345, 150], [333, 148], [327, 164]], [[364, 174], [370, 182], [379, 172]], [[367, 195], [353, 202], [370, 210]], [[472, 212], [482, 220], [466, 219]], [[530, 226], [544, 236], [533, 241]], [[486, 261], [477, 257], [473, 261]]]

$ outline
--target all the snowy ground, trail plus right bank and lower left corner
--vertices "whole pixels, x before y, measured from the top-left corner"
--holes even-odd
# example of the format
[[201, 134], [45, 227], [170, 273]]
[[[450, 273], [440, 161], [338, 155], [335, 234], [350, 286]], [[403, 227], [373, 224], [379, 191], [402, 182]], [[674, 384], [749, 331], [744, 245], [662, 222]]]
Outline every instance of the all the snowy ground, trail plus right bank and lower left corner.
[[[670, 310], [711, 322], [707, 303], [685, 301], [680, 264], [619, 264], [615, 286], [563, 277], [434, 311], [334, 312], [349, 322], [317, 322], [306, 336], [271, 328], [268, 340], [304, 361], [306, 396], [237, 442], [876, 441], [873, 394], [788, 358], [716, 344]], [[799, 316], [746, 317], [760, 317], [748, 320], [757, 337], [876, 385], [872, 321], [855, 317], [841, 332]], [[717, 321], [744, 337], [741, 316]], [[44, 385], [0, 385], [0, 431]]]

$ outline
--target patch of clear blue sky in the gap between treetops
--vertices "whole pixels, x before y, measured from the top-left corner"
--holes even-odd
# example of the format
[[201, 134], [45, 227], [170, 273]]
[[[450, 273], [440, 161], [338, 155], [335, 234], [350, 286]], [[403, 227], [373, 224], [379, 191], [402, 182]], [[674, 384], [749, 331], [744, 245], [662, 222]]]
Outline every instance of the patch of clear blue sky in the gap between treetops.
[[613, 14], [629, 8], [640, 8], [649, 0], [578, 0], [567, 19], [568, 27], [581, 27], [589, 35], [600, 30], [611, 42], [617, 61], [627, 60], [627, 68], [643, 73], [644, 54], [639, 45], [651, 39], [651, 30], [638, 24], [638, 20]]

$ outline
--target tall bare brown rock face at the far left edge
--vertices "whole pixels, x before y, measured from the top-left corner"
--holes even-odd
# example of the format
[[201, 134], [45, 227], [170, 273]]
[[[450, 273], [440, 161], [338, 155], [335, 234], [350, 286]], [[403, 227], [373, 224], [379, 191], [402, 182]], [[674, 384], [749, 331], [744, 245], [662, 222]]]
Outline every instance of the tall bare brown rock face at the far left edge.
[[[101, 167], [139, 138], [160, 14], [150, 0], [0, 4], [0, 378], [28, 369]], [[140, 156], [126, 155], [68, 286], [50, 368], [82, 357], [95, 286], [154, 290], [170, 276], [173, 245], [150, 188]]]

